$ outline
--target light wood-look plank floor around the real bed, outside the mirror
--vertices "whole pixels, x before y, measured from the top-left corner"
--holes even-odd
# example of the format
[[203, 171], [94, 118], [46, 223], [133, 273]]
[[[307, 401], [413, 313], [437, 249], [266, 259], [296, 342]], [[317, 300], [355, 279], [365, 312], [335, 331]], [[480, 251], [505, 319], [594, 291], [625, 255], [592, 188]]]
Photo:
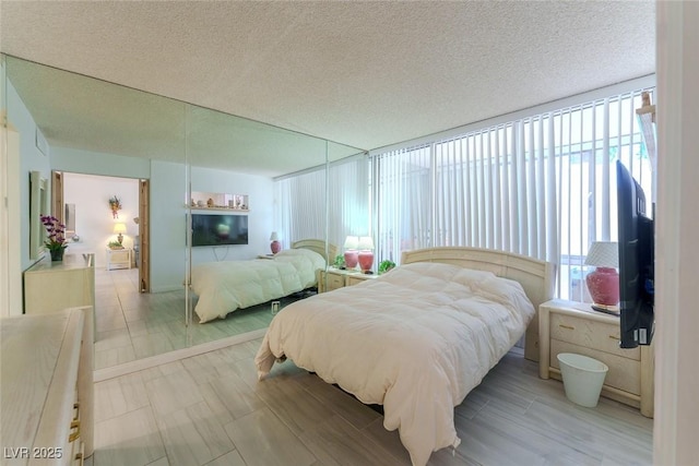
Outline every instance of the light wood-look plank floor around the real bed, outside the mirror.
[[[382, 417], [292, 361], [258, 382], [254, 339], [95, 384], [95, 455], [108, 465], [410, 465]], [[652, 420], [508, 354], [455, 408], [461, 445], [430, 465], [650, 465]]]

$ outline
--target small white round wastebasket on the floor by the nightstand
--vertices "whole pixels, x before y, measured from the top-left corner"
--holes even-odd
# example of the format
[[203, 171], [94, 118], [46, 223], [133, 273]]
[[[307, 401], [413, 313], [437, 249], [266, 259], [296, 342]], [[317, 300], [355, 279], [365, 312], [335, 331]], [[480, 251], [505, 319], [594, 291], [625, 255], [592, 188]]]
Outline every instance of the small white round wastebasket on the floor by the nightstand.
[[568, 399], [587, 408], [597, 406], [604, 378], [609, 370], [607, 365], [572, 353], [559, 354], [558, 365]]

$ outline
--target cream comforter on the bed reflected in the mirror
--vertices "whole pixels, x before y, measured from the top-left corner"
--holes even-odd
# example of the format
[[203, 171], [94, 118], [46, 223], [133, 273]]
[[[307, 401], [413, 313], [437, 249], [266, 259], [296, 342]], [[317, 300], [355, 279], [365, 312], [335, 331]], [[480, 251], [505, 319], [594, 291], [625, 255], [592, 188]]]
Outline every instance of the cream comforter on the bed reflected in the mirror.
[[260, 304], [316, 284], [325, 260], [307, 249], [280, 251], [274, 259], [208, 262], [192, 267], [191, 288], [200, 323], [225, 318], [239, 308]]

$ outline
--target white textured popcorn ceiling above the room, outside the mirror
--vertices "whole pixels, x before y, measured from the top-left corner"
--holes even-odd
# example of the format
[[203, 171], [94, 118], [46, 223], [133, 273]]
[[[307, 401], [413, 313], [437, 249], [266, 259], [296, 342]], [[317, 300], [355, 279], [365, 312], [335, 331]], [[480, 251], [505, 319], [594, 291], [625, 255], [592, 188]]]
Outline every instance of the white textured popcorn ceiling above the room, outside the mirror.
[[364, 150], [655, 70], [652, 1], [0, 3], [9, 55]]

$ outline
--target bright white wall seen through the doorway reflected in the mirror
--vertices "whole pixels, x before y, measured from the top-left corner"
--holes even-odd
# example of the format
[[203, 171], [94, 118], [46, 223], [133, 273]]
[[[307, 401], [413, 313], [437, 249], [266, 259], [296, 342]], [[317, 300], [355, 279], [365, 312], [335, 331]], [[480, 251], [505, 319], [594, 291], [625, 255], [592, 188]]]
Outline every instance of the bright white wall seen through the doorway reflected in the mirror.
[[[112, 218], [109, 198], [118, 196], [122, 210], [119, 218]], [[82, 174], [63, 174], [63, 200], [75, 204], [75, 235], [79, 242], [71, 242], [67, 253], [95, 253], [95, 266], [106, 267], [106, 247], [116, 241], [115, 223], [127, 226], [123, 246], [133, 248], [139, 226], [133, 217], [139, 215], [139, 180], [133, 178], [104, 177]]]

